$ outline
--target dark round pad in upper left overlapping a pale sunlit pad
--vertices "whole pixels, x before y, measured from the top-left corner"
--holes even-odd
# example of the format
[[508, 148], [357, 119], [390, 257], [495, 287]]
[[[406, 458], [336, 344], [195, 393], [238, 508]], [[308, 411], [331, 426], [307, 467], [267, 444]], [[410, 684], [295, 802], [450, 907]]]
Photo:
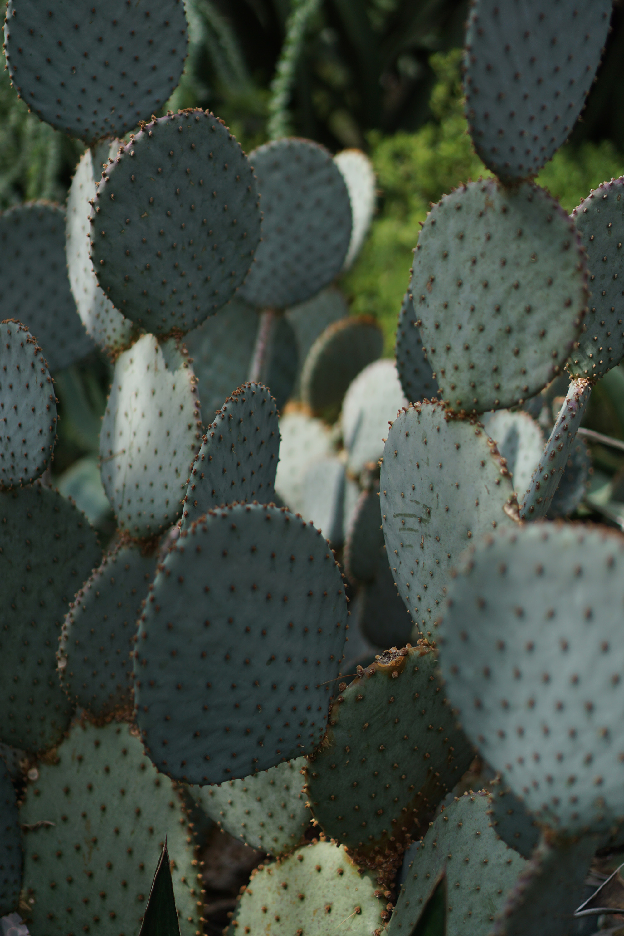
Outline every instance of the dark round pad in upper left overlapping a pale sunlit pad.
[[97, 279], [126, 318], [154, 334], [193, 329], [225, 305], [259, 237], [252, 168], [209, 111], [146, 124], [97, 186]]

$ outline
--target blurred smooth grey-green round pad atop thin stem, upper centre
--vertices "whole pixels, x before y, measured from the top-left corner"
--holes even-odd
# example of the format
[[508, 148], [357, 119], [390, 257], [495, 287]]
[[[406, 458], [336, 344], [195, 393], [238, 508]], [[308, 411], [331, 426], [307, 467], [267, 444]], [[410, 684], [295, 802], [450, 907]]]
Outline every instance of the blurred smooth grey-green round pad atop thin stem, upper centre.
[[351, 203], [340, 169], [311, 139], [279, 139], [249, 156], [262, 208], [262, 242], [242, 286], [256, 306], [287, 308], [341, 271], [351, 240]]

